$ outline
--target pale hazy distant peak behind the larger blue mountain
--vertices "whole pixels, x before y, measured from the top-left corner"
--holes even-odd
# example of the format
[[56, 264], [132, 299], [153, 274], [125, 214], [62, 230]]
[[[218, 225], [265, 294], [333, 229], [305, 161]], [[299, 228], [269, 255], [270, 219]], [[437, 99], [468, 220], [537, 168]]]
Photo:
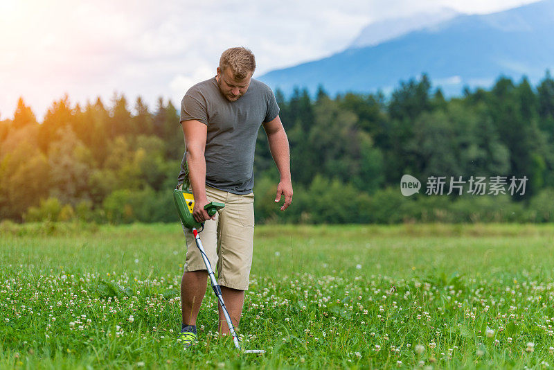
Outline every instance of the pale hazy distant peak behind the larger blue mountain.
[[413, 30], [421, 30], [447, 21], [460, 15], [451, 8], [439, 8], [437, 10], [428, 10], [418, 12], [410, 17], [400, 17], [383, 19], [366, 26], [354, 39], [348, 49], [362, 48], [364, 46], [374, 46], [382, 42], [405, 35]]

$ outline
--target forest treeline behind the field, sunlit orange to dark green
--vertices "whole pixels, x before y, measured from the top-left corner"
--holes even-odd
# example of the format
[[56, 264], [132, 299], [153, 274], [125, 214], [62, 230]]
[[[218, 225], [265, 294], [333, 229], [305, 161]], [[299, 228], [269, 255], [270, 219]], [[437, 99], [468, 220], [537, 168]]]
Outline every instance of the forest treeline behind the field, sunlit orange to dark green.
[[[278, 172], [260, 129], [257, 222], [548, 222], [554, 218], [554, 80], [500, 77], [445, 99], [424, 74], [388, 98], [320, 88], [276, 91], [289, 136], [294, 202], [274, 203]], [[179, 112], [115, 95], [111, 105], [57, 100], [42, 122], [19, 99], [0, 121], [0, 220], [177, 222], [172, 201], [184, 140]], [[132, 113], [133, 112], [133, 113]], [[404, 197], [402, 175], [422, 183]], [[451, 177], [526, 177], [524, 192], [447, 194]], [[427, 195], [445, 177], [443, 195]], [[508, 181], [509, 183], [509, 181]], [[521, 190], [521, 189], [520, 189]]]

